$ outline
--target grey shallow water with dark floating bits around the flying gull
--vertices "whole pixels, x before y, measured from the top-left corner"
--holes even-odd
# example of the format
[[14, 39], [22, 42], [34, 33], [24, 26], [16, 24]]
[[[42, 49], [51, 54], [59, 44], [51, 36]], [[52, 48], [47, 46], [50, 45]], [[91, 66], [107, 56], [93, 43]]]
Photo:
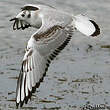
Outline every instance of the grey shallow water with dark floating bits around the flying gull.
[[[89, 38], [74, 33], [70, 44], [52, 62], [47, 76], [23, 110], [80, 110], [86, 104], [110, 106], [109, 0], [39, 0], [69, 13], [94, 18], [101, 35]], [[0, 1], [0, 110], [15, 110], [16, 78], [24, 48], [35, 31], [13, 31], [9, 20], [26, 3], [37, 0]], [[100, 3], [99, 3], [100, 2]], [[92, 48], [89, 48], [92, 45]], [[21, 109], [20, 109], [21, 110]]]

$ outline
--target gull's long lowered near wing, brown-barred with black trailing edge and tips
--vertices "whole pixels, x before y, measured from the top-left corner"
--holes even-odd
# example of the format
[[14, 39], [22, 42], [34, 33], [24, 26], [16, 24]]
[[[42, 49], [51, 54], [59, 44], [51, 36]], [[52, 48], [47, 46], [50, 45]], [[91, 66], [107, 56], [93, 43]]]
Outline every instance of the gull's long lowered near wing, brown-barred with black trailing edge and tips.
[[35, 33], [28, 42], [16, 89], [16, 106], [27, 103], [39, 87], [51, 60], [68, 44], [70, 27], [53, 26], [43, 33]]

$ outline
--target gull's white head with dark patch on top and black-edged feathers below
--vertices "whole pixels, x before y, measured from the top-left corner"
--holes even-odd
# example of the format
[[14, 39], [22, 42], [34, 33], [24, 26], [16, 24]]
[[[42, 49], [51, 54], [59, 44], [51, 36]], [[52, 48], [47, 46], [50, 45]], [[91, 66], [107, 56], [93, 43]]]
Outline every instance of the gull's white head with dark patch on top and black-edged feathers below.
[[13, 29], [25, 29], [30, 26], [39, 28], [41, 19], [39, 18], [39, 8], [34, 5], [26, 5], [21, 8], [21, 12], [10, 21], [15, 21]]

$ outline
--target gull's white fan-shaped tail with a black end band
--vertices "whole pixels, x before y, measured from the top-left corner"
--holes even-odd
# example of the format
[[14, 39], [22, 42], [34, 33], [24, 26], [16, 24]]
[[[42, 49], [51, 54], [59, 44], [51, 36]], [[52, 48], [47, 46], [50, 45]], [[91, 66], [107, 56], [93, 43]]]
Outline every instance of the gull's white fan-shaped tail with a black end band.
[[95, 21], [84, 15], [74, 16], [73, 23], [75, 28], [86, 36], [97, 36], [100, 34], [100, 28]]

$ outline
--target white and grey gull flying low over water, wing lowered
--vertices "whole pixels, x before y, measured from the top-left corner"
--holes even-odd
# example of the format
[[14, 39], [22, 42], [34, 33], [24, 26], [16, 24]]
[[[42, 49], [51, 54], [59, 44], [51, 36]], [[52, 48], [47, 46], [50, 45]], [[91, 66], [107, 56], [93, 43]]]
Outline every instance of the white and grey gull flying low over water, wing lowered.
[[36, 28], [28, 41], [17, 81], [17, 108], [31, 99], [32, 93], [43, 82], [51, 61], [66, 47], [75, 30], [92, 37], [100, 34], [94, 20], [41, 4], [24, 5], [10, 21], [14, 21], [13, 30]]

